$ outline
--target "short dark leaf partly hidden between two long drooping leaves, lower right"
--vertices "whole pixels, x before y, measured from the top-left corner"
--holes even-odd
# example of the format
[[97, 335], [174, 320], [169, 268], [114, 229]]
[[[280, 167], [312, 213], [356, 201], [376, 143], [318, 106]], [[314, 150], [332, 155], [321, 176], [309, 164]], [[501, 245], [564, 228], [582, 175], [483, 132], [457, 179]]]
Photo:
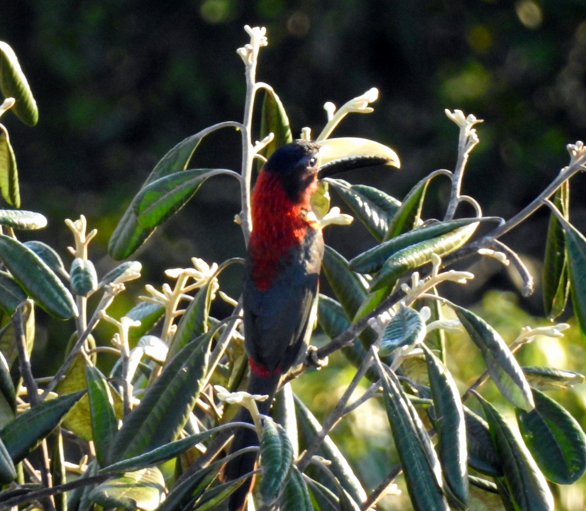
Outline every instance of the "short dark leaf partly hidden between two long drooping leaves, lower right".
[[464, 421], [468, 465], [481, 474], [492, 477], [502, 476], [502, 463], [490, 438], [488, 423], [466, 407], [464, 407]]

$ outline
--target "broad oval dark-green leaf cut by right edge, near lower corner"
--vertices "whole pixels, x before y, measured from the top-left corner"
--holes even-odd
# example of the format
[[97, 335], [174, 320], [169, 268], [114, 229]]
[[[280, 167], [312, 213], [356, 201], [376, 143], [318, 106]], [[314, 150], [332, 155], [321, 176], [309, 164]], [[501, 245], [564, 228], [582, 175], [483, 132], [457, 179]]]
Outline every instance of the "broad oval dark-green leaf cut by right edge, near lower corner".
[[523, 440], [547, 479], [572, 484], [586, 471], [586, 435], [553, 399], [535, 389], [533, 398], [533, 410], [516, 410]]

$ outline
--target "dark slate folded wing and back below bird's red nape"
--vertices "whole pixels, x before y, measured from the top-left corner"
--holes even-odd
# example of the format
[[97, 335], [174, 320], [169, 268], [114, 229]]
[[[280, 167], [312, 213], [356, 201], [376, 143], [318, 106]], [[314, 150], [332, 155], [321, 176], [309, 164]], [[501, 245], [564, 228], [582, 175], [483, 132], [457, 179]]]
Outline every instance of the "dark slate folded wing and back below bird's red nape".
[[251, 275], [244, 282], [244, 344], [248, 355], [268, 371], [287, 372], [301, 351], [322, 255], [321, 232], [308, 229], [267, 289], [258, 289]]

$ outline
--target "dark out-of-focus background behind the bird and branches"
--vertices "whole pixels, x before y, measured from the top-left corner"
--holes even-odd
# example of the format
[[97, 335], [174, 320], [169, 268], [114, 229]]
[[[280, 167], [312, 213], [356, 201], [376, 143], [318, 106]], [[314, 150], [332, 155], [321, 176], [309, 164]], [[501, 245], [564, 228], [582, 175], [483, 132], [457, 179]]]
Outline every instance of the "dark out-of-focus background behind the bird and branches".
[[[99, 231], [90, 256], [100, 274], [114, 265], [108, 238], [154, 164], [200, 129], [241, 120], [245, 84], [236, 49], [248, 42], [245, 24], [267, 27], [258, 79], [280, 95], [297, 135], [303, 126], [319, 132], [325, 101], [341, 105], [379, 88], [375, 112], [350, 116], [337, 133], [386, 143], [403, 166], [345, 178], [399, 199], [432, 170], [454, 167], [457, 129], [445, 108], [485, 119], [464, 192], [489, 215], [510, 218], [529, 203], [567, 164], [565, 145], [586, 136], [584, 0], [5, 0], [0, 13], [0, 40], [18, 55], [40, 111], [34, 128], [12, 114], [2, 118], [16, 152], [22, 207], [49, 218], [33, 236], [66, 256], [71, 241], [63, 220], [86, 215]], [[239, 162], [239, 136], [222, 131], [205, 139], [193, 166], [239, 169]], [[585, 184], [583, 176], [575, 179], [571, 199], [572, 221], [582, 231]], [[427, 216], [440, 217], [447, 190], [430, 194]], [[135, 255], [144, 265], [135, 289], [162, 282], [164, 269], [189, 265], [192, 256], [220, 262], [243, 255], [237, 212], [236, 182], [208, 181]], [[547, 216], [541, 211], [505, 239], [538, 281]], [[346, 256], [372, 244], [359, 226], [326, 235]], [[482, 275], [469, 286], [471, 303], [486, 283], [516, 290], [497, 263]], [[239, 292], [239, 278], [234, 273], [226, 282], [231, 294]], [[514, 314], [515, 328], [529, 314], [543, 314], [539, 292], [492, 296], [484, 310], [495, 321]], [[584, 371], [583, 354], [568, 351], [558, 362]]]

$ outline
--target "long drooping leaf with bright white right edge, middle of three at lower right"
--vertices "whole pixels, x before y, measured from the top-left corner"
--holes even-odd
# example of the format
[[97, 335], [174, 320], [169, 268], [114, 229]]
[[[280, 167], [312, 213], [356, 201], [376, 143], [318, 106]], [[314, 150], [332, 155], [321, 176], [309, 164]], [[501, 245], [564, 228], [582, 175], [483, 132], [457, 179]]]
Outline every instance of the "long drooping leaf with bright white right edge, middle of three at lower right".
[[448, 369], [430, 349], [425, 344], [421, 348], [425, 353], [434, 400], [434, 427], [438, 434], [437, 450], [445, 488], [452, 506], [468, 509], [468, 447], [464, 408], [458, 387]]

